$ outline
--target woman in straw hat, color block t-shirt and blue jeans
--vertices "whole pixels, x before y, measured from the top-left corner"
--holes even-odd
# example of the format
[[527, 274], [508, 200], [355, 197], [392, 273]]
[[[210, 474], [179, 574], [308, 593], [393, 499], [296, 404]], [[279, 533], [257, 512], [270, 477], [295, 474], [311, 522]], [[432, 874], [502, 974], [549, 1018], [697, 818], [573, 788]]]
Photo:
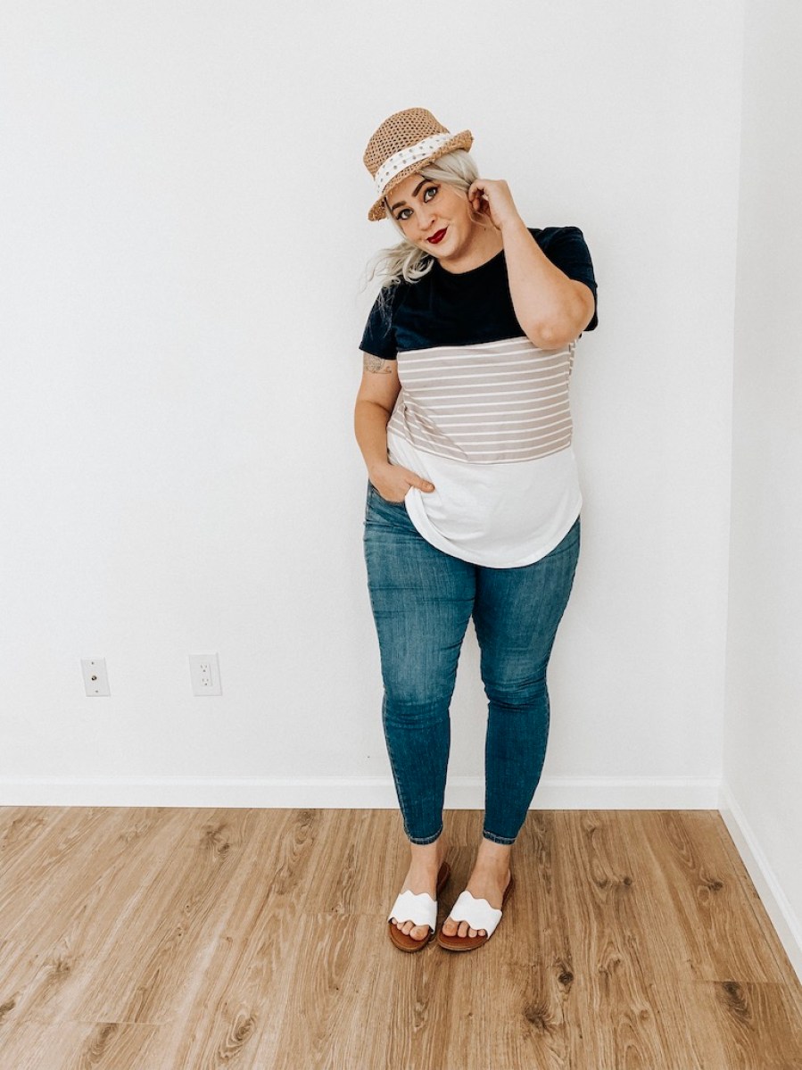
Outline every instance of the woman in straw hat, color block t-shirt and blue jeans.
[[513, 887], [580, 552], [568, 386], [576, 339], [597, 325], [590, 255], [576, 227], [527, 228], [507, 183], [479, 177], [472, 143], [408, 108], [364, 156], [377, 197], [368, 218], [402, 239], [359, 347], [354, 429], [382, 718], [411, 847], [388, 917], [405, 951], [434, 937], [450, 872], [449, 703], [468, 618], [489, 699], [485, 810], [467, 887], [437, 933], [451, 950], [490, 938]]

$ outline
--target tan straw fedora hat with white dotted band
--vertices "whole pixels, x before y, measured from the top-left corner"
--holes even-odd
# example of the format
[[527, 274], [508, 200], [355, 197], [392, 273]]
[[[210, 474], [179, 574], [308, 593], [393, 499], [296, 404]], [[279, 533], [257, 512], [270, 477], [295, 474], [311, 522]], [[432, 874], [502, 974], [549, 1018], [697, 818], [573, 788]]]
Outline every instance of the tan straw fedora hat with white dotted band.
[[373, 134], [363, 160], [375, 183], [377, 200], [368, 212], [371, 221], [384, 219], [384, 198], [425, 164], [454, 149], [467, 151], [474, 143], [471, 131], [451, 134], [426, 108], [406, 108], [385, 119]]

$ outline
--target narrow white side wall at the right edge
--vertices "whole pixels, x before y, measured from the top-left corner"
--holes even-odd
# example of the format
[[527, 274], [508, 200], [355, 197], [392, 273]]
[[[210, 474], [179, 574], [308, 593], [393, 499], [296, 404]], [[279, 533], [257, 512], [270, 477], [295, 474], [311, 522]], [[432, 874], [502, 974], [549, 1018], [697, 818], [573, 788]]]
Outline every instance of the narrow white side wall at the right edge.
[[802, 9], [744, 42], [723, 800], [802, 976]]

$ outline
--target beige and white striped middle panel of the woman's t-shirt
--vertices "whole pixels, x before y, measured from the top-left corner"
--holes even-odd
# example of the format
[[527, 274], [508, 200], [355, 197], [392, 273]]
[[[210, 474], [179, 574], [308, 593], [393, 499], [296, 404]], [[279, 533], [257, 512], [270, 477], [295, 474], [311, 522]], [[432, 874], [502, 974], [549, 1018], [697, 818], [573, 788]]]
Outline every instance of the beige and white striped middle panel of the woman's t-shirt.
[[574, 350], [573, 341], [538, 349], [526, 336], [400, 350], [401, 391], [387, 429], [427, 453], [475, 464], [557, 453], [571, 444]]

